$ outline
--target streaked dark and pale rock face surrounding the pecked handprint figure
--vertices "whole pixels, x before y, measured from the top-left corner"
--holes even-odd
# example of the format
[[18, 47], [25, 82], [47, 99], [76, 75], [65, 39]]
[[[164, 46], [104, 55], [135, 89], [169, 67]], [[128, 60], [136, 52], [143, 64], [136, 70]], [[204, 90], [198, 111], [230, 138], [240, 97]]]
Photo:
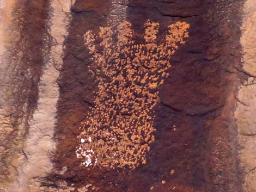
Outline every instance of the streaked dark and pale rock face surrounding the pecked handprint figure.
[[[255, 191], [253, 1], [244, 10], [243, 0], [12, 2], [0, 6], [1, 192]], [[81, 166], [81, 123], [100, 92], [84, 35], [125, 22], [134, 44], [144, 44], [148, 20], [159, 23], [157, 39], [172, 23], [190, 29], [186, 44], [162, 59], [172, 67], [150, 114], [147, 161], [134, 170]], [[101, 37], [95, 48], [104, 53]]]

